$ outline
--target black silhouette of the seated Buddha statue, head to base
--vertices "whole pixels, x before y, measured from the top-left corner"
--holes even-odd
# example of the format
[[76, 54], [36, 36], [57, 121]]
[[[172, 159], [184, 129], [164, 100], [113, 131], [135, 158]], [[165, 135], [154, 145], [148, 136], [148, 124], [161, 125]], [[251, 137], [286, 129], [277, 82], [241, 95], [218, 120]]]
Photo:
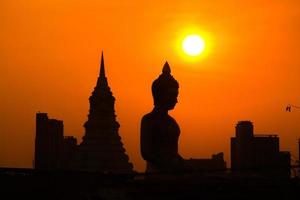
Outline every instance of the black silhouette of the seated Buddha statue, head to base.
[[147, 161], [146, 172], [168, 173], [185, 170], [178, 154], [180, 129], [168, 111], [177, 103], [178, 82], [171, 75], [168, 62], [162, 74], [152, 83], [153, 110], [141, 121], [141, 154]]

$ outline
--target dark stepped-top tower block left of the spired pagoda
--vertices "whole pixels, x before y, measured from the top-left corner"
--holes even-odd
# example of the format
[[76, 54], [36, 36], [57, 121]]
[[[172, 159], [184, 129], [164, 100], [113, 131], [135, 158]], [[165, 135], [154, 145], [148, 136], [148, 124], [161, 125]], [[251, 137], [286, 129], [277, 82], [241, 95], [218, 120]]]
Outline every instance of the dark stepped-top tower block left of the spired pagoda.
[[63, 121], [49, 119], [47, 113], [36, 114], [36, 138], [34, 167], [58, 169], [61, 165], [63, 144]]

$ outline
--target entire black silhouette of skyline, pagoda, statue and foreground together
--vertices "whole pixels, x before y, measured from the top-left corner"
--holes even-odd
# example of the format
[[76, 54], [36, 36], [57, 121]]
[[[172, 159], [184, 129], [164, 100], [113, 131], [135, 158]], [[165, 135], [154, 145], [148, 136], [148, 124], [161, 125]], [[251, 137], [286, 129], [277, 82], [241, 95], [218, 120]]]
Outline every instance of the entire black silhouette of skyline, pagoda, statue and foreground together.
[[[154, 108], [141, 120], [145, 173], [133, 170], [116, 121], [103, 53], [89, 98], [83, 140], [64, 136], [62, 120], [36, 113], [34, 169], [0, 167], [2, 196], [43, 199], [285, 199], [299, 194], [299, 163], [281, 151], [278, 135], [254, 134], [251, 121], [238, 121], [231, 137], [231, 168], [224, 153], [211, 158], [179, 155], [180, 125], [168, 115], [180, 85], [166, 62], [153, 81]], [[300, 152], [300, 139], [299, 139]], [[246, 195], [246, 196], [245, 196]]]

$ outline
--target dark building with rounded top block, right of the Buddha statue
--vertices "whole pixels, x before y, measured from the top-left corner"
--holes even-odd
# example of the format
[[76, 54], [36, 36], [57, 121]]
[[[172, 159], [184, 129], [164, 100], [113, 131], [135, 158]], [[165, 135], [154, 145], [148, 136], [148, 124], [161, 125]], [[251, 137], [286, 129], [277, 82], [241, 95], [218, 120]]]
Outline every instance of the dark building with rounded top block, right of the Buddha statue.
[[277, 135], [254, 135], [250, 121], [236, 125], [236, 135], [231, 138], [231, 168], [290, 174], [290, 153], [279, 151]]

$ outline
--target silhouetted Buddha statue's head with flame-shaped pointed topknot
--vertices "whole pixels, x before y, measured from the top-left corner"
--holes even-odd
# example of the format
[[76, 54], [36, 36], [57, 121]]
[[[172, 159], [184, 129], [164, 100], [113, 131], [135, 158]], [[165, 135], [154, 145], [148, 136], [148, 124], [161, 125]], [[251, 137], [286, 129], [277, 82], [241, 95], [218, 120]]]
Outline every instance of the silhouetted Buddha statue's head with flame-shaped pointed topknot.
[[164, 110], [172, 110], [177, 103], [178, 82], [171, 75], [168, 62], [165, 63], [162, 74], [152, 83], [154, 106]]

